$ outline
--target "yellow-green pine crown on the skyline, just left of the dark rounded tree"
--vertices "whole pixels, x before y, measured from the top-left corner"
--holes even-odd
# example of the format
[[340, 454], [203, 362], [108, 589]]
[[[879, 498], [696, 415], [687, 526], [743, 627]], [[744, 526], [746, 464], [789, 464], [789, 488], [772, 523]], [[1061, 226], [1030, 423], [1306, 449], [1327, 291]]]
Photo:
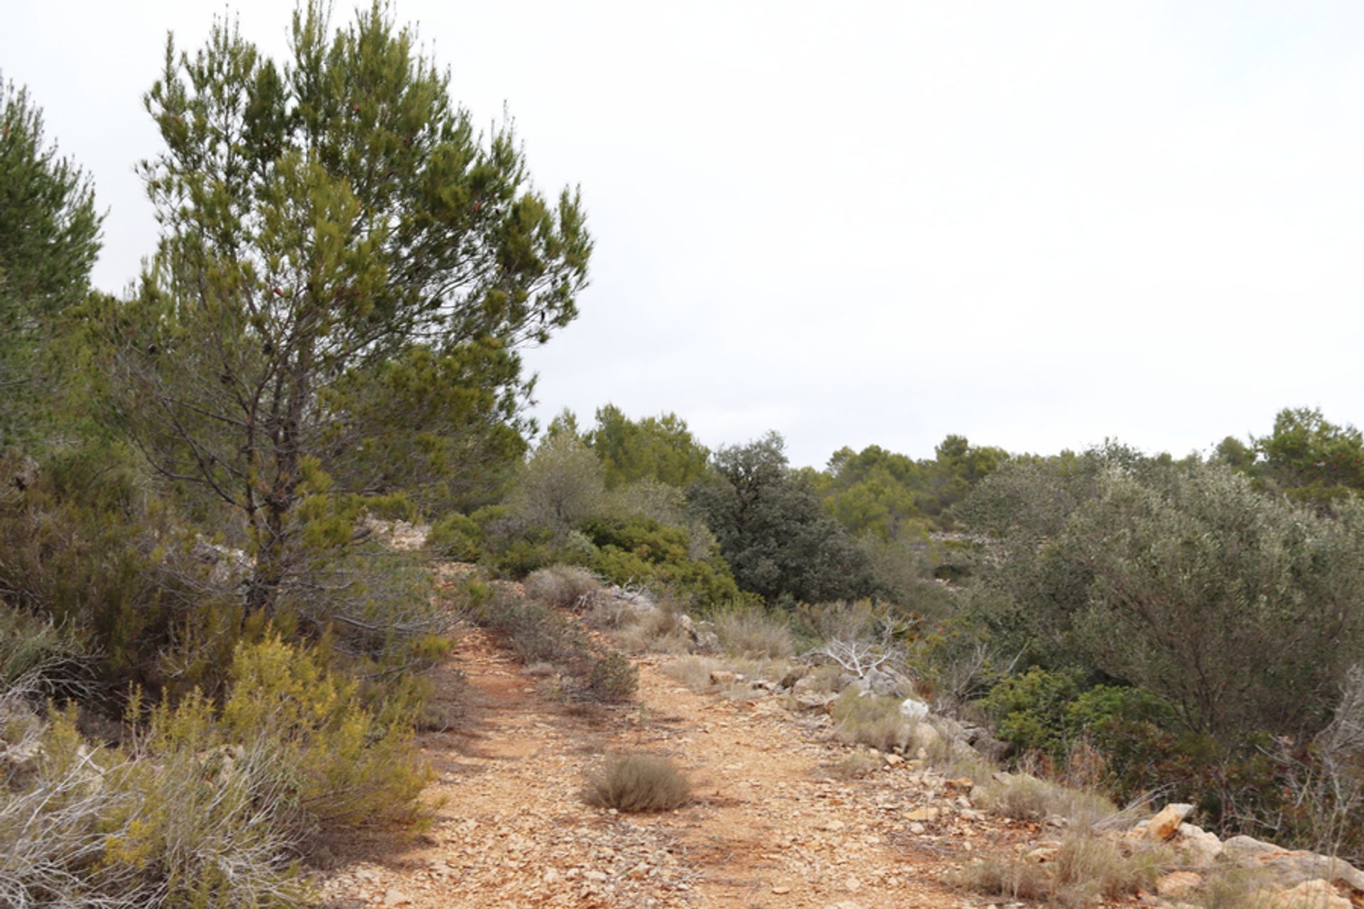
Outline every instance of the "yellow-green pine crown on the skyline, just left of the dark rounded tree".
[[705, 473], [709, 451], [677, 414], [630, 420], [615, 405], [596, 412], [587, 443], [602, 458], [606, 482], [615, 488], [637, 480], [686, 487]]

